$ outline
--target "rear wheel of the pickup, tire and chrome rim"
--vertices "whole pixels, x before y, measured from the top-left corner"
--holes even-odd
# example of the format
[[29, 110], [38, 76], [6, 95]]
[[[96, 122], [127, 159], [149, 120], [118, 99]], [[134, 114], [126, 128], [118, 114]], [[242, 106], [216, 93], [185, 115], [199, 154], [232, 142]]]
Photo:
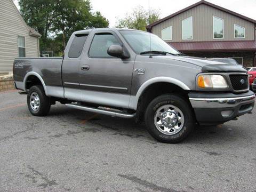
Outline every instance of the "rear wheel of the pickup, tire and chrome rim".
[[51, 100], [45, 95], [43, 86], [31, 86], [27, 96], [28, 109], [34, 116], [46, 116], [51, 108]]

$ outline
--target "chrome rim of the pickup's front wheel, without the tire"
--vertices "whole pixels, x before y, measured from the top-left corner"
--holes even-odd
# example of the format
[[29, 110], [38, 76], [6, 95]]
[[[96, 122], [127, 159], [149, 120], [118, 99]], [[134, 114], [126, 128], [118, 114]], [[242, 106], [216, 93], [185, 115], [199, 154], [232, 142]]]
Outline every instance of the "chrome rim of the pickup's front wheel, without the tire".
[[157, 109], [154, 123], [158, 131], [173, 135], [182, 130], [185, 118], [182, 111], [173, 105], [164, 105]]

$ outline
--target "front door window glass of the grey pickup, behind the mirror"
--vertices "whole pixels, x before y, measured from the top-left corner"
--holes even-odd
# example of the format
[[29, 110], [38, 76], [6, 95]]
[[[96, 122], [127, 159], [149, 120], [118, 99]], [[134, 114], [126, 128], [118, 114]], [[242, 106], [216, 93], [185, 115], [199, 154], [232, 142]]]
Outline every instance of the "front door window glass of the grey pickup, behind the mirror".
[[110, 33], [95, 34], [89, 51], [93, 58], [113, 58], [107, 51], [111, 45], [120, 45], [117, 38]]

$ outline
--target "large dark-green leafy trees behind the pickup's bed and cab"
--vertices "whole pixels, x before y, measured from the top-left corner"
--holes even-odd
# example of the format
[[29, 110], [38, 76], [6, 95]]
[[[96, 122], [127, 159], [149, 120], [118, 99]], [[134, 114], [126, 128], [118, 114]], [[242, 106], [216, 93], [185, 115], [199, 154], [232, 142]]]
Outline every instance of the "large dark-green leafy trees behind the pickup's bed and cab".
[[42, 35], [41, 51], [63, 54], [76, 30], [108, 27], [100, 12], [92, 12], [89, 0], [19, 0], [20, 12], [30, 27]]

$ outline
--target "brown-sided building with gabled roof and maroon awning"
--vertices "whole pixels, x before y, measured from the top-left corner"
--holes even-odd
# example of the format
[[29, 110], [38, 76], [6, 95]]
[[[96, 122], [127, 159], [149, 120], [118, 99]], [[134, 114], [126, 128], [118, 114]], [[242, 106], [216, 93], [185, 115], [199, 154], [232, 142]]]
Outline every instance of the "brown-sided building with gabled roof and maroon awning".
[[200, 1], [147, 26], [182, 53], [206, 58], [234, 58], [256, 66], [256, 21]]

